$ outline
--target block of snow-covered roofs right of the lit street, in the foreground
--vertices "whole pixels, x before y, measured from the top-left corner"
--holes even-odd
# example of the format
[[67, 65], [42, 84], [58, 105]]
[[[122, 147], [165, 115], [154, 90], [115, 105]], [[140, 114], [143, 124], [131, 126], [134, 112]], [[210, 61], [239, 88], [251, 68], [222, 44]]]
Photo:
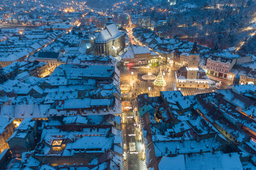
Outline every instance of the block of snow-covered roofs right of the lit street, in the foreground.
[[[245, 97], [255, 90], [241, 86], [196, 96], [179, 91], [138, 96], [136, 120], [147, 168], [172, 169], [166, 162], [173, 162], [175, 169], [255, 168], [255, 100]], [[225, 157], [230, 160], [222, 162]]]

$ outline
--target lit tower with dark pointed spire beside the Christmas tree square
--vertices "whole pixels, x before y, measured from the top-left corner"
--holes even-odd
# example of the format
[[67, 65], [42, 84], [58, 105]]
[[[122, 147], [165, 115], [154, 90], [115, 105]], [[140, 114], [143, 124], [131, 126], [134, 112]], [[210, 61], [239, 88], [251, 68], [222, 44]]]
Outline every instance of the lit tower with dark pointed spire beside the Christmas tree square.
[[195, 41], [191, 52], [189, 53], [188, 58], [188, 74], [187, 78], [190, 80], [195, 80], [197, 71], [198, 71], [198, 64], [199, 64], [199, 52], [197, 48], [197, 43]]

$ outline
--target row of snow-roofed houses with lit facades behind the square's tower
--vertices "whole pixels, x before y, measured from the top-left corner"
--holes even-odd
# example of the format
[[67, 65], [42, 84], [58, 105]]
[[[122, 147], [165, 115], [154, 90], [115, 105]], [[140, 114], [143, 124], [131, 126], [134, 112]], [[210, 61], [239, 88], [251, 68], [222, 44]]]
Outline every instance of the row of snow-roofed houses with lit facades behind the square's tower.
[[[146, 45], [150, 50], [159, 54], [159, 60], [170, 66], [188, 66], [189, 52], [193, 43], [182, 41], [178, 37], [160, 38], [154, 31], [136, 28], [133, 30], [134, 39], [140, 45]], [[199, 66], [204, 69], [209, 78], [218, 81], [241, 84], [255, 83], [255, 56], [237, 55], [231, 48], [227, 50], [212, 50], [198, 45], [200, 54]], [[149, 64], [147, 59], [143, 64]], [[141, 63], [142, 64], [142, 63]], [[236, 80], [239, 77], [239, 80]]]

